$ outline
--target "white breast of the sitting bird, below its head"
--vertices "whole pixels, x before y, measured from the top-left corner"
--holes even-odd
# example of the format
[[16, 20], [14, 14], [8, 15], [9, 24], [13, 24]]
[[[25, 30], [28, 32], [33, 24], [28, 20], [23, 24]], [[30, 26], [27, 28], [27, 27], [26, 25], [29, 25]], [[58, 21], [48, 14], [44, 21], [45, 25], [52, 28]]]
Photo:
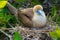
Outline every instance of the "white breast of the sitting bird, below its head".
[[38, 13], [34, 13], [33, 17], [33, 26], [34, 27], [42, 27], [46, 24], [46, 16], [42, 13], [43, 16], [38, 15]]

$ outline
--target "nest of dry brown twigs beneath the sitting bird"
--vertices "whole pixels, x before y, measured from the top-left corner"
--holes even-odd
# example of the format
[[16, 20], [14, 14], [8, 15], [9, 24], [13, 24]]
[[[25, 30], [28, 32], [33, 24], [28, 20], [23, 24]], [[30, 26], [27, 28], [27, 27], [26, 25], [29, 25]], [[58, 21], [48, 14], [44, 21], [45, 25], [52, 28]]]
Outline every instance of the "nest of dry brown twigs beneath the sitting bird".
[[22, 35], [23, 40], [53, 40], [50, 37], [49, 32], [55, 29], [55, 26], [51, 25], [43, 28], [28, 28], [28, 27], [16, 27], [19, 33]]

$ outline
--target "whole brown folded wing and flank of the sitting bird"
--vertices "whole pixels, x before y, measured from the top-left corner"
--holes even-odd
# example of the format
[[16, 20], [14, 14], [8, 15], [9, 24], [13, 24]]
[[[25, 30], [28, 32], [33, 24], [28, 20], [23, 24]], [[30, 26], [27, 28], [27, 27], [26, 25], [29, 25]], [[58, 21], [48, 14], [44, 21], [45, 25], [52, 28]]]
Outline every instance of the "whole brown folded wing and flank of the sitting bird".
[[33, 17], [33, 9], [27, 8], [18, 11], [18, 17], [25, 24], [25, 26], [32, 26], [32, 17]]

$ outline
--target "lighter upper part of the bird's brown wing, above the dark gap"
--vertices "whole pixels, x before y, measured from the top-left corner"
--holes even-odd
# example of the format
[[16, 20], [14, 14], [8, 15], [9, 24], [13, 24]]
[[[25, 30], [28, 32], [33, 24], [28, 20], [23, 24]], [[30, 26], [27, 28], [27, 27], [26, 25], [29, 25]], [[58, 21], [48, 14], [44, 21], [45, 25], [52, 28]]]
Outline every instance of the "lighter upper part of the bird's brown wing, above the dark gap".
[[33, 8], [22, 9], [21, 13], [24, 14], [30, 20], [33, 18], [33, 15], [34, 15]]

